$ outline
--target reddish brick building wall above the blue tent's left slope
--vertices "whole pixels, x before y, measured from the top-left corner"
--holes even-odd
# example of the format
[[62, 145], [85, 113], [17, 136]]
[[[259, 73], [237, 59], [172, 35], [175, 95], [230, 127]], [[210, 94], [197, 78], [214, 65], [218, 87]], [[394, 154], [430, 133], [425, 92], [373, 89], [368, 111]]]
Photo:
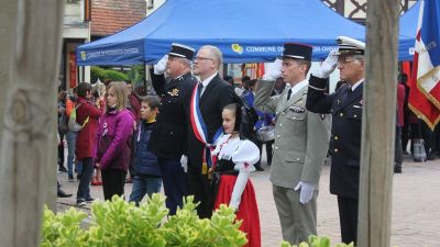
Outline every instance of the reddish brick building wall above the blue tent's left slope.
[[107, 36], [145, 18], [145, 0], [92, 0], [91, 35]]

